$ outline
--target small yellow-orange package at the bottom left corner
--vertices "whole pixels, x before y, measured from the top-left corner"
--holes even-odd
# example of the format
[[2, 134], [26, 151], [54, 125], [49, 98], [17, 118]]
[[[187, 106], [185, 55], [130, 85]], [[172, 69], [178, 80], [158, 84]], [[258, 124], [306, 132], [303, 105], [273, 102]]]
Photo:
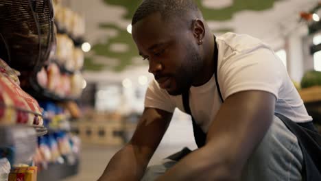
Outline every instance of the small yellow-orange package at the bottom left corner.
[[9, 173], [8, 181], [37, 181], [37, 167], [16, 167]]

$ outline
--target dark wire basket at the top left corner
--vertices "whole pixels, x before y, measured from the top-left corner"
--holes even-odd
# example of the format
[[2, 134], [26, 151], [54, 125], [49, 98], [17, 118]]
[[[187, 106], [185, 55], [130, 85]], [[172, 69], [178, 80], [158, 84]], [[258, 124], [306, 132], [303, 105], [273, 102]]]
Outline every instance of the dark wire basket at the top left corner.
[[18, 71], [40, 69], [54, 40], [51, 0], [1, 0], [0, 16], [0, 57]]

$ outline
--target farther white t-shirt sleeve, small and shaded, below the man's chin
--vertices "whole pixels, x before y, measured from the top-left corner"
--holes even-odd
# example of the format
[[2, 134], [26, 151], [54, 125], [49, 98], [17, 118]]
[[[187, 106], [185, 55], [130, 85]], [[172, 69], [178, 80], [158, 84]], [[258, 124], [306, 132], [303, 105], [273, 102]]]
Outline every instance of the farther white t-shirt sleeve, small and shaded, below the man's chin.
[[152, 80], [146, 91], [145, 108], [158, 108], [167, 112], [174, 112], [176, 106], [166, 90], [160, 88], [158, 83]]

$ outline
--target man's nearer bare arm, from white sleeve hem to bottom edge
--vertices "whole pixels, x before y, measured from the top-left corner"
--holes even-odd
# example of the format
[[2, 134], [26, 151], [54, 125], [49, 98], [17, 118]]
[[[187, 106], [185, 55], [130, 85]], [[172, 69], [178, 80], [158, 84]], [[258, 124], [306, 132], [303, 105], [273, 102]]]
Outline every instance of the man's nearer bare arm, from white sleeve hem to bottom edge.
[[158, 180], [239, 180], [246, 160], [270, 128], [276, 98], [248, 90], [230, 95], [211, 123], [206, 145]]

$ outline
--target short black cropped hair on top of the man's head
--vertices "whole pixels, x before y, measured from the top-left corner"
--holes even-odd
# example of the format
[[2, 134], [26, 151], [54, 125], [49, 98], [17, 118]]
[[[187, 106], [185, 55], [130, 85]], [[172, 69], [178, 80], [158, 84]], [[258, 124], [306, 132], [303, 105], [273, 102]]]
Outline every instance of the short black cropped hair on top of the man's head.
[[134, 13], [132, 25], [156, 12], [165, 20], [185, 18], [189, 12], [200, 15], [198, 5], [193, 0], [144, 0]]

